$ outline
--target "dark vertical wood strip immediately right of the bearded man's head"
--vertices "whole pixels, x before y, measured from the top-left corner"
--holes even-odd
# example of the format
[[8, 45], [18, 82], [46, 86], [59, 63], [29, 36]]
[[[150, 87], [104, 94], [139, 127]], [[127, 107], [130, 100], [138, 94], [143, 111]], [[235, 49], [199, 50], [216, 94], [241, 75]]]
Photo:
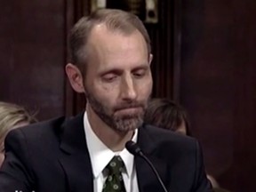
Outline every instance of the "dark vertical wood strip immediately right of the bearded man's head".
[[172, 98], [173, 84], [173, 1], [159, 1], [159, 21], [146, 25], [151, 38], [152, 75], [154, 87], [152, 97]]

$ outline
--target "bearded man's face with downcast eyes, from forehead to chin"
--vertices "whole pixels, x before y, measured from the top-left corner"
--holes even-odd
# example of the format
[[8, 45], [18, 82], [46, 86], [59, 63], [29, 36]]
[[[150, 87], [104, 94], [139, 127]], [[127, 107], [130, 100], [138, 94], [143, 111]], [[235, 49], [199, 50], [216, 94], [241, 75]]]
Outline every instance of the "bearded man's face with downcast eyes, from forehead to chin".
[[123, 35], [99, 25], [92, 29], [89, 47], [88, 108], [118, 132], [134, 130], [142, 124], [152, 90], [152, 57], [145, 40], [138, 31]]

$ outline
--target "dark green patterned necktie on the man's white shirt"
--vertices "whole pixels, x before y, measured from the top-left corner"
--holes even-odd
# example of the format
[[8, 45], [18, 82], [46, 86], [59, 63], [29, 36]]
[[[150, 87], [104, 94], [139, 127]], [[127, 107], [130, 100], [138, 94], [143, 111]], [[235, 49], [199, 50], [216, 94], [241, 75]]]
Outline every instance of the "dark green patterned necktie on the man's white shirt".
[[102, 192], [125, 192], [122, 172], [125, 166], [120, 156], [114, 156], [106, 166], [104, 172], [108, 177], [103, 185]]

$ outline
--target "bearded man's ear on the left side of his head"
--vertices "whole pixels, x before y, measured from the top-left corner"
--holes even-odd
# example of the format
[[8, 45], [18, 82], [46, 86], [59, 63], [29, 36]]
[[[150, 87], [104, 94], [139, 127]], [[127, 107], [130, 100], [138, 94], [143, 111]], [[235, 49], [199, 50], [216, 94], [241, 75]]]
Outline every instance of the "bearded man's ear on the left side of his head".
[[72, 63], [68, 63], [65, 69], [72, 88], [76, 92], [84, 92], [84, 78], [79, 68]]

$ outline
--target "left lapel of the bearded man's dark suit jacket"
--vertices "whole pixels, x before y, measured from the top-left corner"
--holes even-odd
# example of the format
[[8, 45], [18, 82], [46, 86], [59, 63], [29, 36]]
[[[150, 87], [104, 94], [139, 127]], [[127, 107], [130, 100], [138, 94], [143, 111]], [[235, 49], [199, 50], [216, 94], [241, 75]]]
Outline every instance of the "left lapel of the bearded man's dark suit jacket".
[[68, 191], [93, 191], [92, 164], [84, 135], [83, 114], [63, 125], [60, 164], [66, 173]]

